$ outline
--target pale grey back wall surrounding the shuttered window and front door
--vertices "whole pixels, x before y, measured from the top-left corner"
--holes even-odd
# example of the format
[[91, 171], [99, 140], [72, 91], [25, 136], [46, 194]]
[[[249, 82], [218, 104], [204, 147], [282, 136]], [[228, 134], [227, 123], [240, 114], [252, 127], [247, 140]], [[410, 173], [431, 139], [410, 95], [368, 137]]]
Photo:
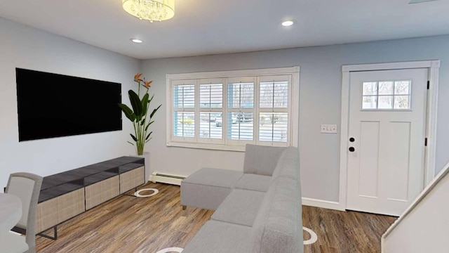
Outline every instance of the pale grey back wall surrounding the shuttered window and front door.
[[[249, 38], [248, 38], [249, 39]], [[182, 43], [182, 41], [180, 41]], [[338, 201], [340, 134], [320, 134], [320, 124], [340, 128], [342, 65], [441, 60], [436, 171], [449, 160], [449, 36], [293, 48], [216, 56], [145, 60], [155, 104], [163, 103], [149, 150], [152, 170], [189, 175], [200, 167], [241, 170], [243, 153], [166, 147], [166, 74], [300, 65], [300, 167], [303, 197]], [[155, 155], [156, 154], [156, 155]]]

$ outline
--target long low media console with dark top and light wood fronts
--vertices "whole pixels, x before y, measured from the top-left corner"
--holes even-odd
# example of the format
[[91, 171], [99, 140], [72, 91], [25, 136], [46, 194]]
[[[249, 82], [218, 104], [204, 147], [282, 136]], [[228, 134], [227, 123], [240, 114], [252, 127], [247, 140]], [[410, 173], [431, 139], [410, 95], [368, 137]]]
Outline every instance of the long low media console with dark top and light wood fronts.
[[[145, 159], [119, 157], [43, 178], [36, 234], [56, 240], [58, 224], [145, 183]], [[54, 237], [42, 234], [53, 228]]]

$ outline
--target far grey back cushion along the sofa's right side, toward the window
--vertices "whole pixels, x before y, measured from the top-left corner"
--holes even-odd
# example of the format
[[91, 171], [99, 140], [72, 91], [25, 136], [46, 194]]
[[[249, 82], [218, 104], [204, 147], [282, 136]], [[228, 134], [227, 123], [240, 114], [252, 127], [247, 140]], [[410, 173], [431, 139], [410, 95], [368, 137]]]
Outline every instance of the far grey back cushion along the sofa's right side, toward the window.
[[285, 177], [300, 181], [299, 151], [295, 147], [288, 147], [283, 151], [274, 169], [270, 184], [278, 177]]

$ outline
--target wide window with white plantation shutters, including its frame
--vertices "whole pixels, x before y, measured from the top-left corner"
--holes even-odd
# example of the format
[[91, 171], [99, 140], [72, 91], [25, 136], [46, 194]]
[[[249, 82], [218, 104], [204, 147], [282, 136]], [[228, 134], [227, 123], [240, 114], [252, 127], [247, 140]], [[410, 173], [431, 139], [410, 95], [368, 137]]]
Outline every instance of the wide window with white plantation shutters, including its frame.
[[297, 146], [299, 67], [167, 75], [167, 145]]

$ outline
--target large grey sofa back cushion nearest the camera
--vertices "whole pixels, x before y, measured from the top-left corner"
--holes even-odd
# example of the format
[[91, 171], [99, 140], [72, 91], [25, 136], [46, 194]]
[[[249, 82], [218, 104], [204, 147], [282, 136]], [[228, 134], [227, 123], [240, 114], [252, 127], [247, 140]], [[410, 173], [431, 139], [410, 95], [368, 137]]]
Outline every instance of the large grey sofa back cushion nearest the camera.
[[303, 252], [298, 181], [279, 177], [270, 186], [253, 223], [254, 253]]

